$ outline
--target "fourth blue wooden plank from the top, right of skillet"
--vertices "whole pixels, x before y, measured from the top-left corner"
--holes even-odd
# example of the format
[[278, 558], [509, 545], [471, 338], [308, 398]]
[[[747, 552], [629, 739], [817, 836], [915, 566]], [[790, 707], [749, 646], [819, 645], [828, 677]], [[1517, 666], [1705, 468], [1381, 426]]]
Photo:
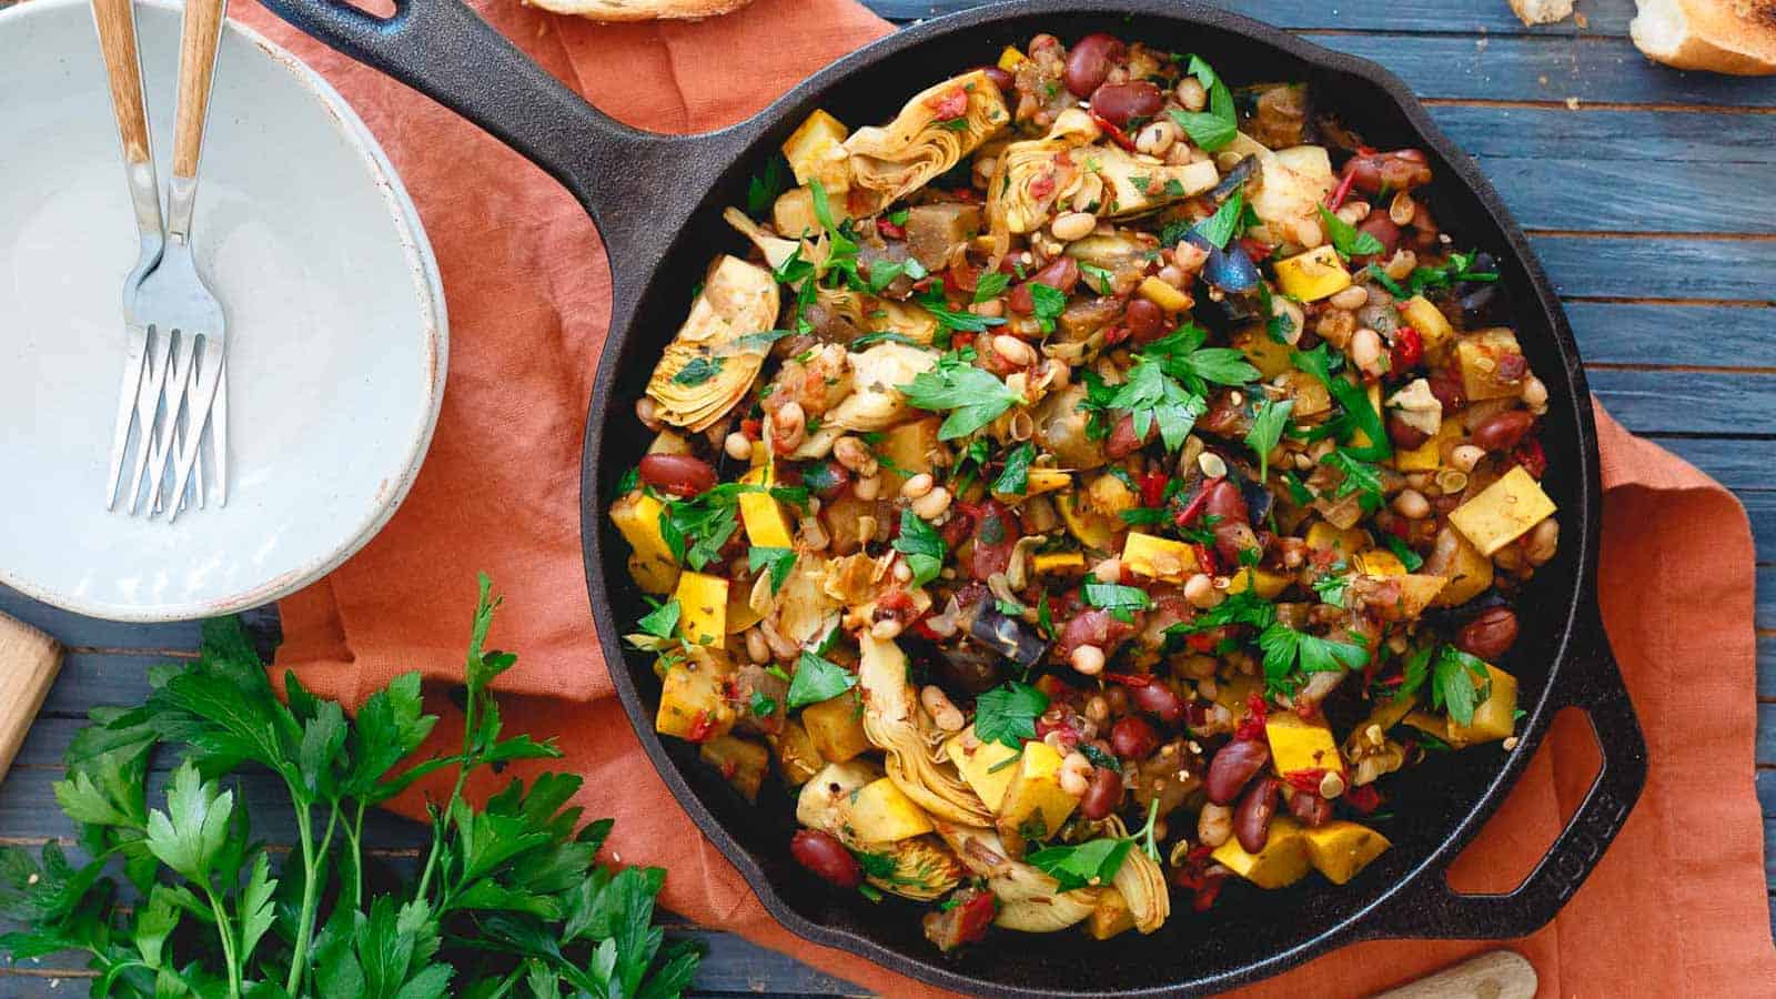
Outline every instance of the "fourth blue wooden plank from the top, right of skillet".
[[1776, 199], [1746, 197], [1769, 180], [1771, 164], [1703, 167], [1581, 158], [1581, 153], [1547, 148], [1542, 155], [1479, 156], [1478, 162], [1527, 229], [1776, 233]]

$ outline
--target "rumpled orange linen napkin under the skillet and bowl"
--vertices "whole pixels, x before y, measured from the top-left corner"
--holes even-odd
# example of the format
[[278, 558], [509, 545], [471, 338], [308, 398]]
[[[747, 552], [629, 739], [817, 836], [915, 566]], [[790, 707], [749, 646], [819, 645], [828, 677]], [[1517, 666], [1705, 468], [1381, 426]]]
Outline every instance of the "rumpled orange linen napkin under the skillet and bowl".
[[[638, 126], [737, 121], [892, 28], [847, 0], [758, 0], [705, 23], [597, 27], [476, 0], [494, 25], [595, 105]], [[279, 667], [357, 704], [391, 675], [458, 679], [474, 574], [510, 597], [496, 642], [520, 652], [506, 718], [554, 734], [614, 816], [625, 862], [670, 867], [664, 905], [892, 995], [934, 994], [780, 928], [654, 773], [591, 631], [579, 549], [579, 444], [609, 274], [591, 222], [519, 155], [451, 112], [297, 34], [236, 14], [323, 73], [382, 140], [437, 251], [451, 315], [449, 391], [430, 460], [387, 528], [284, 601]], [[622, 418], [618, 414], [616, 418]], [[1646, 727], [1639, 807], [1559, 919], [1515, 946], [1543, 995], [1739, 995], [1776, 981], [1753, 796], [1753, 556], [1733, 498], [1598, 418], [1602, 603]], [[1559, 455], [1554, 455], [1559, 460]], [[1465, 891], [1511, 887], [1582, 796], [1595, 748], [1568, 715], [1456, 864]], [[398, 803], [417, 814], [419, 798]], [[1490, 944], [1360, 944], [1250, 995], [1360, 994]]]

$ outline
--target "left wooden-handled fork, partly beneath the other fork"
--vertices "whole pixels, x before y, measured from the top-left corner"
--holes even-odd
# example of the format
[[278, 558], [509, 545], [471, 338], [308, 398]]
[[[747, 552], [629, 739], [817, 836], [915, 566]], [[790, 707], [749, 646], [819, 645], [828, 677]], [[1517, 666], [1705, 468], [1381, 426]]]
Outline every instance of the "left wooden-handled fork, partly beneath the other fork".
[[[160, 181], [155, 178], [155, 153], [147, 133], [147, 108], [142, 100], [142, 59], [135, 37], [133, 0], [92, 0], [92, 23], [98, 27], [99, 52], [105, 55], [105, 73], [110, 78], [112, 112], [117, 116], [124, 174], [130, 180], [130, 201], [140, 235], [135, 267], [123, 279], [124, 370], [123, 384], [117, 389], [110, 468], [105, 476], [105, 508], [112, 510], [117, 505], [123, 462], [130, 450], [130, 432], [135, 427], [140, 427], [135, 480], [142, 480], [142, 468], [151, 452], [155, 411], [160, 405], [162, 384], [165, 382], [169, 338], [158, 338], [156, 359], [149, 364], [149, 332], [135, 311], [135, 293], [142, 277], [160, 263], [167, 240], [162, 233]], [[133, 505], [135, 500], [131, 500]]]

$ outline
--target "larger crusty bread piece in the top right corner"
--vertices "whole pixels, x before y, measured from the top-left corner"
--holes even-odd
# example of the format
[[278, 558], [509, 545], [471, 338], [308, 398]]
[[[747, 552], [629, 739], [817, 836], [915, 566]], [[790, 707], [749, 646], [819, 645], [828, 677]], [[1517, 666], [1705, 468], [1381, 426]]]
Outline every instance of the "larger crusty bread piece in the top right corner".
[[1776, 73], [1776, 0], [1637, 0], [1629, 36], [1648, 59], [1737, 76]]

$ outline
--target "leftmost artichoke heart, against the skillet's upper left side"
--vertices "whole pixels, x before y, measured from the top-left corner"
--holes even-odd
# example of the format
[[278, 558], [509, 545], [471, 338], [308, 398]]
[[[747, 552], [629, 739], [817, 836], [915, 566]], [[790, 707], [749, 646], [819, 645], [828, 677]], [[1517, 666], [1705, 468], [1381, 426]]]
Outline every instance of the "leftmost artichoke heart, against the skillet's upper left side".
[[778, 284], [769, 270], [728, 254], [716, 258], [689, 318], [648, 379], [659, 418], [702, 432], [733, 409], [771, 350], [769, 340], [748, 338], [769, 331], [776, 315]]

